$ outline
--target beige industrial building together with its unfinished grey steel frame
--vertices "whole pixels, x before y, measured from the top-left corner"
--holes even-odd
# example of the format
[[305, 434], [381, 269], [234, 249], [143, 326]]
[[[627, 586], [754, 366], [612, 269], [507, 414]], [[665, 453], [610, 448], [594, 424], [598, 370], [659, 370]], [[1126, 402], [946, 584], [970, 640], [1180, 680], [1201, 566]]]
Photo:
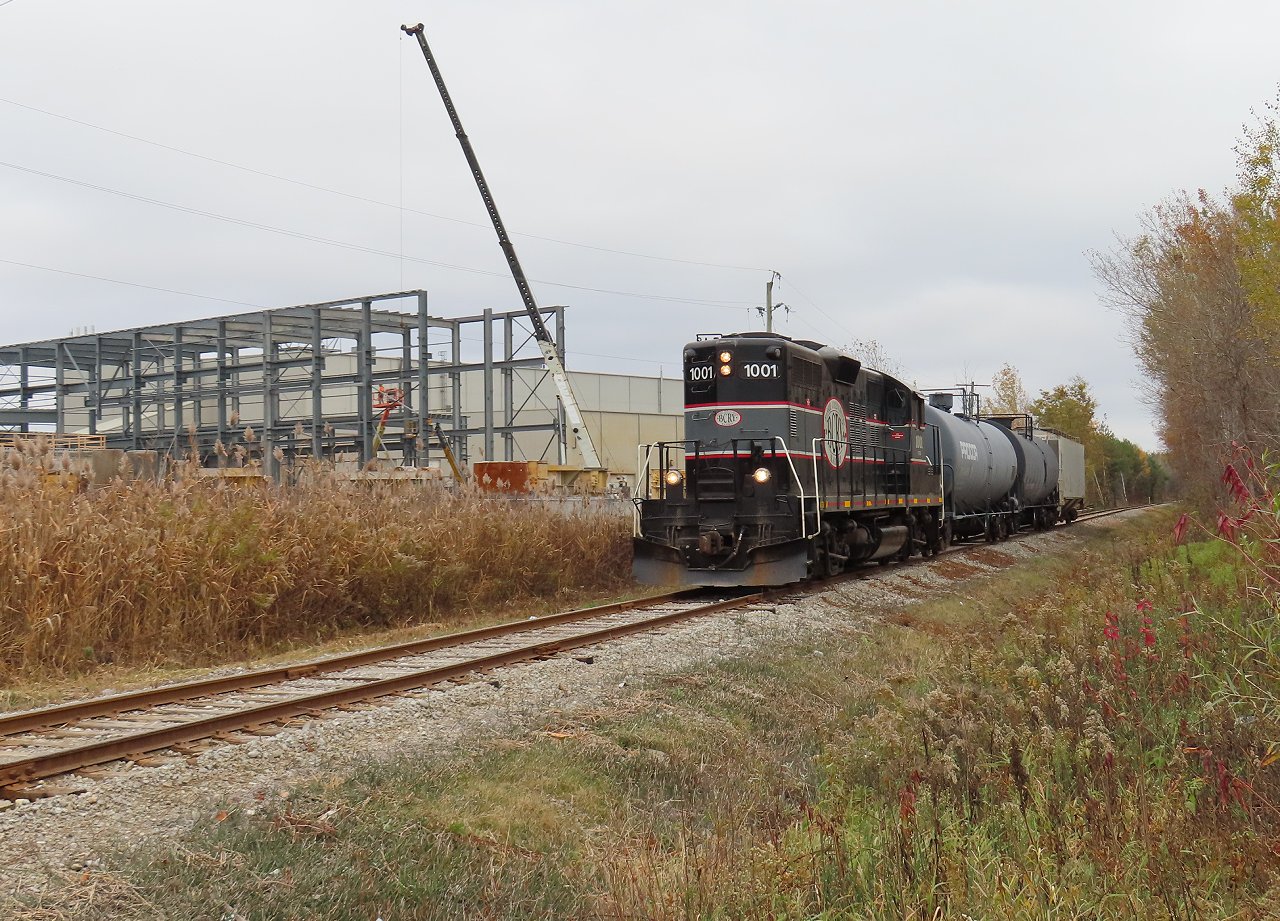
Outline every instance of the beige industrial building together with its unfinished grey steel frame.
[[[566, 308], [540, 312], [563, 359]], [[3, 345], [0, 430], [248, 457], [279, 477], [315, 457], [438, 466], [438, 423], [463, 462], [580, 464], [543, 366], [524, 310], [444, 317], [425, 290], [398, 292]], [[637, 444], [681, 437], [681, 381], [570, 377], [611, 473], [634, 473]]]

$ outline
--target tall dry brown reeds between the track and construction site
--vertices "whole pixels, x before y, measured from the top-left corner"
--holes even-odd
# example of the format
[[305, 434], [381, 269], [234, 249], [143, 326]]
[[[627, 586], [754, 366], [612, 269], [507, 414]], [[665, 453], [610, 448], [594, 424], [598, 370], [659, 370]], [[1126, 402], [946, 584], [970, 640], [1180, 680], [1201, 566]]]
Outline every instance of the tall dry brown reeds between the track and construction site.
[[3, 681], [216, 663], [628, 582], [616, 516], [323, 472], [292, 489], [69, 478], [40, 443], [0, 459]]

